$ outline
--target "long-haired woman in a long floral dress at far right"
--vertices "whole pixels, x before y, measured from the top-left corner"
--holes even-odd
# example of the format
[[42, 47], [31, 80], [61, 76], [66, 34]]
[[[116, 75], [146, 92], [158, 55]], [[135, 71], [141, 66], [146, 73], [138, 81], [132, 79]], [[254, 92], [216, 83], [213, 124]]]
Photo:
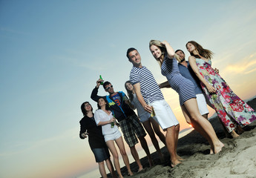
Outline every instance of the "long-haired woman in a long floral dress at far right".
[[203, 91], [208, 96], [211, 105], [217, 115], [226, 126], [227, 131], [235, 138], [239, 135], [234, 131], [240, 129], [240, 125], [249, 125], [256, 120], [255, 111], [243, 102], [211, 67], [211, 50], [203, 49], [197, 42], [191, 41], [186, 44], [191, 54], [188, 61], [194, 73], [200, 79]]

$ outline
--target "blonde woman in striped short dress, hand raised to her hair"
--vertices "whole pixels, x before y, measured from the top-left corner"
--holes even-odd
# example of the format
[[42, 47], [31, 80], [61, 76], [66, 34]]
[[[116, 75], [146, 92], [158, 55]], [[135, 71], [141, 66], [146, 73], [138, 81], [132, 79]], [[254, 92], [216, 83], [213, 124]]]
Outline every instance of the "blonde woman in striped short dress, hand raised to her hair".
[[179, 93], [180, 106], [186, 122], [209, 141], [210, 154], [219, 153], [224, 145], [217, 138], [210, 122], [200, 114], [194, 85], [180, 74], [176, 61], [180, 59], [179, 56], [175, 54], [174, 49], [166, 41], [151, 40], [149, 48], [154, 58], [159, 62], [163, 76], [166, 76], [171, 88]]

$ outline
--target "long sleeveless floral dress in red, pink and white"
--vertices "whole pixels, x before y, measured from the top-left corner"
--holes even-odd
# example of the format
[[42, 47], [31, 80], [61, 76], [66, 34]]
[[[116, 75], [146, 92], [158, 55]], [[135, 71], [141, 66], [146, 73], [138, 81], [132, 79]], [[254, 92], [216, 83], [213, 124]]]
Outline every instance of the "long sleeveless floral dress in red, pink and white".
[[229, 133], [236, 128], [236, 124], [249, 125], [256, 119], [256, 112], [229, 88], [220, 74], [211, 68], [211, 60], [206, 62], [203, 59], [196, 59], [196, 64], [203, 78], [217, 89], [216, 93], [211, 94], [206, 86], [200, 83]]

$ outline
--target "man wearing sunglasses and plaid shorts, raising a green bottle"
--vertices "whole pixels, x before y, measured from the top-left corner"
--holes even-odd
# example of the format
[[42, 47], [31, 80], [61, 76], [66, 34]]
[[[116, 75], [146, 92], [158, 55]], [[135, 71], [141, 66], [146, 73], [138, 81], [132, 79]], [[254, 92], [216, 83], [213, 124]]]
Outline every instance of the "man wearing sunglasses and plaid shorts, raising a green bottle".
[[[93, 89], [91, 93], [91, 99], [95, 102], [98, 102], [99, 98], [105, 98], [108, 101], [108, 105], [111, 108], [111, 111], [117, 121], [119, 122], [120, 128], [125, 138], [125, 142], [129, 145], [131, 150], [131, 154], [134, 157], [134, 160], [137, 162], [139, 167], [139, 171], [142, 171], [142, 164], [140, 162], [140, 157], [137, 153], [135, 145], [138, 143], [138, 139], [140, 139], [140, 144], [144, 149], [145, 153], [148, 156], [149, 165], [154, 165], [150, 152], [148, 150], [148, 144], [145, 140], [145, 130], [142, 127], [140, 120], [136, 113], [130, 108], [131, 105], [128, 97], [122, 91], [115, 92], [113, 85], [111, 82], [104, 82], [103, 88], [106, 92], [109, 93], [108, 96], [98, 96], [98, 90], [100, 83], [103, 82], [102, 79], [98, 79], [96, 81], [96, 87]], [[138, 139], [137, 139], [138, 138]]]

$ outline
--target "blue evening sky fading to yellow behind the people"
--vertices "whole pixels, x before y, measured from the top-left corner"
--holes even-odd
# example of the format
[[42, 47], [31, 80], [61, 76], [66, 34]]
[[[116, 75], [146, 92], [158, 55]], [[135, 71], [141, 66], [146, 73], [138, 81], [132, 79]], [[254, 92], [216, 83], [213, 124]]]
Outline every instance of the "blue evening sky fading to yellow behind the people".
[[[254, 0], [0, 0], [0, 177], [82, 177], [95, 169], [88, 140], [79, 138], [80, 105], [96, 110], [90, 96], [99, 75], [125, 91], [129, 47], [165, 82], [151, 39], [186, 58], [186, 42], [198, 42], [241, 99], [255, 96], [255, 7]], [[162, 91], [188, 128], [177, 93]]]

